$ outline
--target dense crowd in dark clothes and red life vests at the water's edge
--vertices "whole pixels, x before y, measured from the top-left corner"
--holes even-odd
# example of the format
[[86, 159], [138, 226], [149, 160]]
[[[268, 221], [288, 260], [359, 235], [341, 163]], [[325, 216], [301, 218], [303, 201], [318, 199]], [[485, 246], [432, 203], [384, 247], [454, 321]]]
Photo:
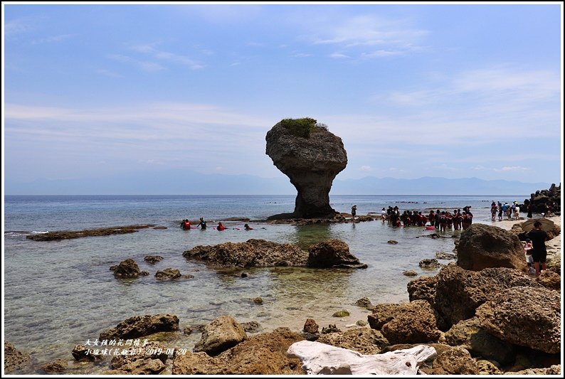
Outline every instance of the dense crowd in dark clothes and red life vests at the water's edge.
[[394, 227], [401, 226], [426, 226], [440, 230], [465, 230], [472, 224], [472, 213], [470, 205], [463, 207], [463, 210], [430, 210], [429, 213], [422, 213], [418, 210], [404, 210], [400, 213], [398, 206], [381, 210], [383, 223], [388, 221]]

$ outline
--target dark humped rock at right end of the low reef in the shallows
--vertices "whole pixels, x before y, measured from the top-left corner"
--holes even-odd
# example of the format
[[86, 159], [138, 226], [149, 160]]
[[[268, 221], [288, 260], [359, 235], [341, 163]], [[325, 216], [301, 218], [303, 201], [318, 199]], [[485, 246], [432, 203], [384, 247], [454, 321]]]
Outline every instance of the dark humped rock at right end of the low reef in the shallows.
[[308, 267], [366, 268], [342, 240], [325, 240], [308, 248]]

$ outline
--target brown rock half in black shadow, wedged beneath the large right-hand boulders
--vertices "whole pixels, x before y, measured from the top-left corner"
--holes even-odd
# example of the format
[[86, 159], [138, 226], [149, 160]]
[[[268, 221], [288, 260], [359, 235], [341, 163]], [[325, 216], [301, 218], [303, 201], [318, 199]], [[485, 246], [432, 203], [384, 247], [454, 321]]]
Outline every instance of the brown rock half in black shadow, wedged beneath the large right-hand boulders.
[[477, 317], [459, 321], [445, 333], [445, 341], [450, 346], [466, 348], [472, 356], [480, 356], [507, 365], [514, 361], [516, 354], [514, 345], [481, 328]]

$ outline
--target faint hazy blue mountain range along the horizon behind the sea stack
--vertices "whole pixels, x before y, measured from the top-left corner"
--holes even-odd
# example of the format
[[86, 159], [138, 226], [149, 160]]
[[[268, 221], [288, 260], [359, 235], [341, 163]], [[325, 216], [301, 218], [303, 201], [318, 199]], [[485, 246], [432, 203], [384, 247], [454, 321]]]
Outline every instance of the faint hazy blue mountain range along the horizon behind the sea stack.
[[[559, 183], [556, 183], [559, 184]], [[551, 183], [485, 181], [479, 178], [376, 178], [334, 180], [330, 195], [529, 195]], [[295, 195], [286, 176], [197, 174], [192, 171], [129, 173], [106, 178], [40, 179], [28, 183], [5, 178], [8, 195]]]

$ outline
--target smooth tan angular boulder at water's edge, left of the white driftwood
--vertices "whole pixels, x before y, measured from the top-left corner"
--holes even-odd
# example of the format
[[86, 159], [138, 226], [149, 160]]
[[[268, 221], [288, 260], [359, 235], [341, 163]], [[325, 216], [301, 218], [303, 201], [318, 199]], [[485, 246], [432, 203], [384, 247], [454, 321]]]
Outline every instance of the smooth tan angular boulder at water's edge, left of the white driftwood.
[[204, 351], [209, 356], [216, 356], [246, 338], [247, 333], [236, 320], [231, 316], [219, 316], [204, 327], [200, 341], [194, 346], [194, 352]]

